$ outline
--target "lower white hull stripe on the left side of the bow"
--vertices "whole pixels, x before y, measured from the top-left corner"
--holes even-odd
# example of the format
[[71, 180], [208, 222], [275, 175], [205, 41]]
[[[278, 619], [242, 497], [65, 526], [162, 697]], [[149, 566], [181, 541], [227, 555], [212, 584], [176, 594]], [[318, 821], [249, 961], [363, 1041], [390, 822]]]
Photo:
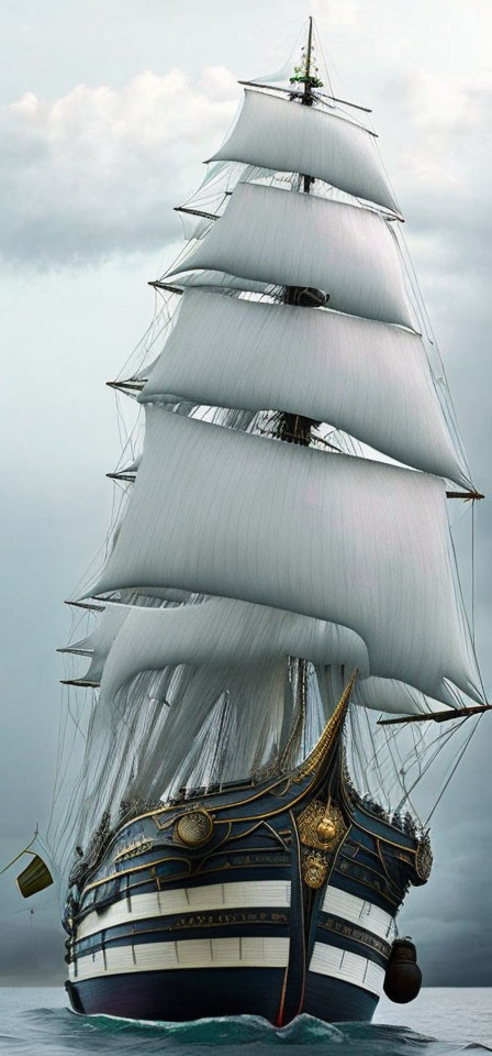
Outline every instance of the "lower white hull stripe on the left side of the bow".
[[177, 943], [113, 946], [79, 957], [69, 966], [72, 982], [93, 977], [136, 971], [170, 971], [179, 968], [284, 968], [288, 938], [200, 938]]

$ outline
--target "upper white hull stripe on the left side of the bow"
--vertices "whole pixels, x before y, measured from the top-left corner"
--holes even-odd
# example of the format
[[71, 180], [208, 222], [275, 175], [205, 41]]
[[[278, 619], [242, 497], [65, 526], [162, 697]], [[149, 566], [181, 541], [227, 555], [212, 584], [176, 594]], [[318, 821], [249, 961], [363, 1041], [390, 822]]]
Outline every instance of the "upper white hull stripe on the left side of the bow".
[[89, 913], [77, 928], [76, 938], [87, 938], [107, 927], [145, 921], [172, 913], [202, 913], [206, 910], [267, 909], [290, 905], [290, 881], [245, 880], [235, 883], [210, 883], [177, 891], [156, 891], [125, 898], [101, 913]]

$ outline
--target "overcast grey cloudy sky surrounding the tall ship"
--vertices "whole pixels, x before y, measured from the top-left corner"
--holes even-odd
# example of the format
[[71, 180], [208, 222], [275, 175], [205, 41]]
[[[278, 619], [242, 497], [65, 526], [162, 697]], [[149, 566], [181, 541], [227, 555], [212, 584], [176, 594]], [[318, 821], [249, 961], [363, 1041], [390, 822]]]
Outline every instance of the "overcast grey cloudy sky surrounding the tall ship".
[[[104, 383], [150, 321], [147, 282], [181, 239], [172, 207], [234, 120], [237, 78], [281, 67], [310, 13], [335, 94], [373, 108], [473, 480], [492, 493], [489, 0], [3, 6], [0, 868], [49, 814], [63, 601], [104, 538], [120, 454]], [[490, 691], [489, 507], [476, 509], [474, 610]], [[451, 516], [469, 601], [471, 514]], [[434, 873], [402, 916], [427, 985], [492, 986], [491, 722], [439, 804]], [[62, 980], [56, 900], [31, 913], [12, 873], [0, 895], [0, 983]]]

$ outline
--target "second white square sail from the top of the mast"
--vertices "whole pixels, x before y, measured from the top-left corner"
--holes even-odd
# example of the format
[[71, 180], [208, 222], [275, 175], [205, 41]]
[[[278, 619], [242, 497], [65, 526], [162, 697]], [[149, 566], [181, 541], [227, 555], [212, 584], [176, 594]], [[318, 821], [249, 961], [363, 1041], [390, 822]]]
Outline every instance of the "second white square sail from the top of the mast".
[[331, 308], [415, 324], [390, 226], [359, 206], [238, 184], [224, 216], [167, 278], [197, 268], [316, 287]]

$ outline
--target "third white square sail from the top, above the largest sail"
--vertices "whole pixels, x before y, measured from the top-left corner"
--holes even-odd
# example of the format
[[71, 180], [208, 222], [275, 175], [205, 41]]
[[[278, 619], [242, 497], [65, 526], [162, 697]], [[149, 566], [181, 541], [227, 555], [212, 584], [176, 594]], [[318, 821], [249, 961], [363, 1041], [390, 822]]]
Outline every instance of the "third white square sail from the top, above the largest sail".
[[422, 339], [400, 327], [187, 290], [138, 398], [167, 393], [326, 421], [400, 462], [470, 486]]

